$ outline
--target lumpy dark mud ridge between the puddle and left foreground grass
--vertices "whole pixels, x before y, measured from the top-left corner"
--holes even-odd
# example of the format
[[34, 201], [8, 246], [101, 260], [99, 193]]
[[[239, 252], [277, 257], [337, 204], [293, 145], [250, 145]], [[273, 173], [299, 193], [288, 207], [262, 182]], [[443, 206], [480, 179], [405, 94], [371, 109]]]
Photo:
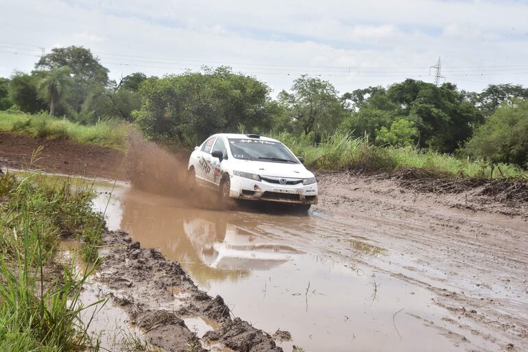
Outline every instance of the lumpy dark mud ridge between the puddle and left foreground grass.
[[[165, 260], [156, 249], [141, 248], [125, 232], [104, 234], [100, 252], [105, 260], [97, 279], [154, 346], [165, 351], [283, 351], [269, 334], [232, 318], [224, 300], [199, 290], [180, 264]], [[186, 318], [202, 319], [210, 331], [191, 331]]]

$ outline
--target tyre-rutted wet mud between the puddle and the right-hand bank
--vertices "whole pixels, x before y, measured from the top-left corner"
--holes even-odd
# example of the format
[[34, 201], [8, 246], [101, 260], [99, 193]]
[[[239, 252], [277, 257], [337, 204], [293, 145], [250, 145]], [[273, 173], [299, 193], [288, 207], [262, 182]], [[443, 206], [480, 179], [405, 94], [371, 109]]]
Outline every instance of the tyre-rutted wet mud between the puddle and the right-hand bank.
[[[343, 189], [345, 185], [339, 192]], [[390, 204], [392, 199], [364, 201], [363, 197], [348, 197], [336, 207], [329, 205], [334, 197], [324, 197], [316, 208], [320, 211], [301, 221], [302, 225], [277, 228], [287, 220], [277, 224], [265, 218], [258, 227], [303, 251], [316, 249], [333, 260], [353, 262], [426, 288], [437, 297], [434, 303], [446, 310], [442, 329], [461, 340], [481, 341], [476, 345], [479, 349], [489, 343], [490, 350], [528, 349], [528, 317], [523, 313], [528, 307], [523, 286], [528, 260], [526, 246], [518, 242], [528, 233], [523, 231], [522, 218], [467, 214], [397, 197], [397, 207]], [[385, 252], [365, 255], [364, 247], [344, 246], [347, 241], [365, 242]], [[507, 283], [514, 279], [520, 282], [509, 287]]]

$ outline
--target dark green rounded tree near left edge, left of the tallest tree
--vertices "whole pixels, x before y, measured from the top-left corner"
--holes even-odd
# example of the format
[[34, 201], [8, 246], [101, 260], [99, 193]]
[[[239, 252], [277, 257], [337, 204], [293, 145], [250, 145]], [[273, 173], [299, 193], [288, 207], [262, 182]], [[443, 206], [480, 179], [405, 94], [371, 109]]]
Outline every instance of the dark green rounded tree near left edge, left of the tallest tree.
[[37, 84], [38, 77], [22, 72], [14, 73], [9, 84], [10, 101], [23, 112], [34, 113], [46, 110], [45, 101], [38, 96]]

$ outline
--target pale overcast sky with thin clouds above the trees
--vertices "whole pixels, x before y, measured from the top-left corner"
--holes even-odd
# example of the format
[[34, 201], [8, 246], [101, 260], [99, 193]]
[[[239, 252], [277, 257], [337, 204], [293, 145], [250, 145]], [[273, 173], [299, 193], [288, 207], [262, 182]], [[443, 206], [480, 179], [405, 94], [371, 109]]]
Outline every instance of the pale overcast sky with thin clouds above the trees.
[[82, 45], [113, 79], [228, 64], [273, 95], [302, 73], [340, 92], [433, 82], [439, 56], [459, 88], [528, 86], [527, 1], [0, 0], [0, 13], [0, 77]]

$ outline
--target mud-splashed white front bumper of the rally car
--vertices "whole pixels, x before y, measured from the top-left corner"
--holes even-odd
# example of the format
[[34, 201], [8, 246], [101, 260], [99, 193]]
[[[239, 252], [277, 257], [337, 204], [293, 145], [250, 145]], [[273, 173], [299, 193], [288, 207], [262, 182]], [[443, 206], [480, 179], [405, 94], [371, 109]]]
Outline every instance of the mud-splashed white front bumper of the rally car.
[[235, 175], [231, 177], [229, 192], [231, 198], [298, 204], [317, 204], [318, 195], [317, 183], [282, 185]]

